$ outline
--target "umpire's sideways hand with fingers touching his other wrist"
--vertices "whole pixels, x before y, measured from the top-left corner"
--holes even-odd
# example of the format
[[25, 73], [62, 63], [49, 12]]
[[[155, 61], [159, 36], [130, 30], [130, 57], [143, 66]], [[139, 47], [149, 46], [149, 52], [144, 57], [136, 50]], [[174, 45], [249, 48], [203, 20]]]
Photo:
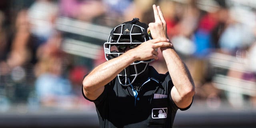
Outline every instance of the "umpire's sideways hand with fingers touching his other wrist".
[[135, 60], [158, 60], [157, 48], [172, 47], [172, 44], [167, 38], [157, 38], [143, 42], [138, 47], [128, 50], [125, 54], [134, 56]]

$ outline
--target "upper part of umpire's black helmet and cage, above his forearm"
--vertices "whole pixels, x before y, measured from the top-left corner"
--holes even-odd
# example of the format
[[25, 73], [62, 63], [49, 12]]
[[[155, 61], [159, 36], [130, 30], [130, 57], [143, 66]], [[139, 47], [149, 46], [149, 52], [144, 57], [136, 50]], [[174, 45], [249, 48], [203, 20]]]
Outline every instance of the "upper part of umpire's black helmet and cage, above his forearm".
[[[147, 24], [139, 22], [138, 18], [134, 18], [133, 20], [124, 22], [112, 29], [108, 41], [104, 43], [106, 60], [113, 58], [113, 56], [118, 57], [124, 53], [124, 51], [120, 52], [117, 50], [116, 46], [119, 44], [140, 45], [147, 40], [151, 40], [152, 37], [147, 33], [147, 28]], [[108, 57], [110, 55], [112, 57]]]

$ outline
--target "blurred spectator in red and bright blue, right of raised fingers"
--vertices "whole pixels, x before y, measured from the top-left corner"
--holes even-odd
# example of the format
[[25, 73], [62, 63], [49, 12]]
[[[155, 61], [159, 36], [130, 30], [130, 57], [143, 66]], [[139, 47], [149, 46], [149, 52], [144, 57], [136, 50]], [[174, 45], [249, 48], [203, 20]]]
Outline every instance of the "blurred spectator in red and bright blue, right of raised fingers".
[[201, 16], [194, 33], [194, 56], [204, 60], [215, 48], [216, 42], [212, 42], [212, 32], [220, 22], [226, 22], [223, 18], [228, 19], [228, 13], [217, 0], [198, 0], [196, 5], [201, 10]]

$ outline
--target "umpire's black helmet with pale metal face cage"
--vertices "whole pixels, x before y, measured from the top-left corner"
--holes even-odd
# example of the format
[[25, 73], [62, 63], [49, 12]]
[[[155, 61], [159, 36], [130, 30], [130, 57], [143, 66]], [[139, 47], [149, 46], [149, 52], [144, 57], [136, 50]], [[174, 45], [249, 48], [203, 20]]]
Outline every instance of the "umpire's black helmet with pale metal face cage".
[[[104, 43], [104, 52], [106, 60], [116, 58], [124, 54], [124, 48], [138, 46], [147, 40], [151, 40], [151, 36], [147, 33], [148, 25], [139, 22], [138, 18], [131, 21], [124, 22], [116, 26], [108, 37], [107, 42]], [[120, 72], [117, 77], [122, 86], [129, 86], [132, 84], [137, 76], [144, 72], [150, 60], [135, 61], [130, 66], [126, 67]]]

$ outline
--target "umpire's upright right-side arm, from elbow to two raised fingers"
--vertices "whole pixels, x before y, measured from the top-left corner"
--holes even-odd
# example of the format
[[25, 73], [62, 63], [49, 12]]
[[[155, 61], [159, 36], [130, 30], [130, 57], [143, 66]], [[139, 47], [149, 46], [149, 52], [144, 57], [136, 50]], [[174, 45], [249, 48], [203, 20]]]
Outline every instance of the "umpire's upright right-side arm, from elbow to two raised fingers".
[[[153, 5], [155, 22], [148, 24], [148, 31], [151, 32], [152, 38], [168, 38], [166, 34], [166, 22], [159, 6]], [[171, 90], [171, 96], [174, 103], [179, 108], [188, 107], [195, 94], [195, 87], [188, 68], [182, 62], [173, 47], [160, 48], [174, 87]]]

